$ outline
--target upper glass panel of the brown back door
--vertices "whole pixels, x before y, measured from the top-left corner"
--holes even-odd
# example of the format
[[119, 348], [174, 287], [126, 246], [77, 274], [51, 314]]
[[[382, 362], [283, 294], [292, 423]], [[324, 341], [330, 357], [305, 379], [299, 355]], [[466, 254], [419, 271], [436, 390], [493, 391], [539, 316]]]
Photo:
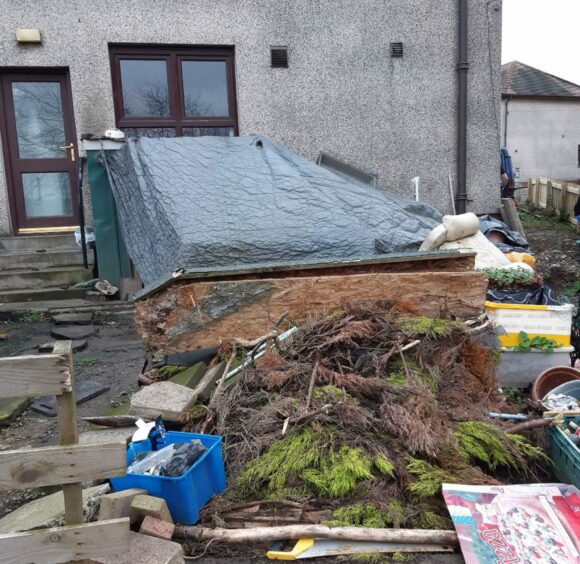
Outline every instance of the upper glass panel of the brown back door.
[[13, 82], [12, 96], [20, 158], [67, 158], [60, 83]]

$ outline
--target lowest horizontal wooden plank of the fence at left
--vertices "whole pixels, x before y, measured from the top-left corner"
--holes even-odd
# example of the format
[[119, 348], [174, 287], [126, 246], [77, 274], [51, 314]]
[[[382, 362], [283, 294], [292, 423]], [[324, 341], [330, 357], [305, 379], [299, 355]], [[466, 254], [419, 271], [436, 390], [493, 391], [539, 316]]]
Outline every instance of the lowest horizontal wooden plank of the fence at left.
[[0, 535], [2, 562], [57, 564], [129, 552], [129, 519]]

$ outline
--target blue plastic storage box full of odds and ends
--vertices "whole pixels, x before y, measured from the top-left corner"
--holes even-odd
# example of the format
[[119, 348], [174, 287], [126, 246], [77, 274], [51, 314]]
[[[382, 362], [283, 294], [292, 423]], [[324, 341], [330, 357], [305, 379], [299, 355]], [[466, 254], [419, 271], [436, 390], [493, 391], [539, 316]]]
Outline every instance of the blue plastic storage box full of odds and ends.
[[[199, 520], [200, 509], [216, 494], [226, 489], [226, 476], [222, 458], [222, 438], [215, 435], [196, 435], [169, 431], [159, 448], [173, 443], [188, 443], [199, 439], [207, 450], [182, 476], [167, 478], [148, 474], [130, 474], [124, 478], [111, 478], [113, 491], [141, 488], [149, 495], [161, 497], [167, 502], [176, 523], [193, 525]], [[127, 451], [127, 466], [133, 462], [137, 452], [151, 449], [149, 441], [131, 443]]]

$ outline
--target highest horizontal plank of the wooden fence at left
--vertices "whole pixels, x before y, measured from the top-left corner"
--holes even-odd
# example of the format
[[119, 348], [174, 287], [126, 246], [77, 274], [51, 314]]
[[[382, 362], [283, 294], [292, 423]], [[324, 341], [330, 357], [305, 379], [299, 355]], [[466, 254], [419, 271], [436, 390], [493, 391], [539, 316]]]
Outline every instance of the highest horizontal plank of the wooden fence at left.
[[0, 358], [0, 398], [52, 396], [72, 390], [69, 361], [59, 354]]

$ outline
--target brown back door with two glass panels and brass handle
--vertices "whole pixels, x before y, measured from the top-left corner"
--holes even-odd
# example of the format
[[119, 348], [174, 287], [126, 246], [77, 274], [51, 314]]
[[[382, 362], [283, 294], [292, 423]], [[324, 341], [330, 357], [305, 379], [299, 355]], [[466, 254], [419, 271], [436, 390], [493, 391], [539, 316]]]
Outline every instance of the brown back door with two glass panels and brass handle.
[[78, 225], [78, 152], [68, 73], [1, 73], [0, 85], [14, 232]]

